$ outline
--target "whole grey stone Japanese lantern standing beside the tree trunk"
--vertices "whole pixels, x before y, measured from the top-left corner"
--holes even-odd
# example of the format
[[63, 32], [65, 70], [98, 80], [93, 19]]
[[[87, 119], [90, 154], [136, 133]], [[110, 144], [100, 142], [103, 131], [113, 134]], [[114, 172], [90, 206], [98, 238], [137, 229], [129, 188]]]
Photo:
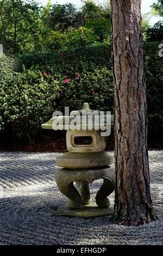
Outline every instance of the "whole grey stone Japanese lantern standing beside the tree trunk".
[[[79, 122], [73, 122], [71, 126], [74, 117]], [[60, 121], [62, 127], [59, 129]], [[113, 116], [109, 125], [113, 125], [112, 121]], [[77, 217], [112, 215], [113, 207], [110, 206], [108, 196], [115, 189], [115, 168], [110, 166], [114, 163], [114, 157], [105, 151], [106, 137], [101, 136], [99, 111], [91, 110], [88, 103], [84, 103], [82, 110], [72, 111], [70, 117], [53, 117], [42, 124], [42, 128], [67, 130], [68, 152], [56, 159], [58, 169], [55, 181], [69, 200], [67, 206], [52, 207], [52, 214]], [[96, 204], [92, 204], [89, 184], [98, 179], [104, 182], [96, 194]]]

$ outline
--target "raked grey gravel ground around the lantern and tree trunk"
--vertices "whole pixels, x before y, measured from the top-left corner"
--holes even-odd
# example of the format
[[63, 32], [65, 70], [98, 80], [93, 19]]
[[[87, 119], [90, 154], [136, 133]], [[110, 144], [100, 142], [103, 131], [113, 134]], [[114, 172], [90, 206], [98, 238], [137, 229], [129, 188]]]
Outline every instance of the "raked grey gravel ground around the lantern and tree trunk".
[[[113, 152], [111, 152], [113, 154]], [[162, 245], [163, 150], [149, 151], [151, 194], [159, 220], [139, 227], [109, 217], [52, 217], [67, 199], [54, 181], [58, 153], [0, 153], [0, 245]], [[91, 185], [92, 197], [101, 181]], [[114, 194], [110, 197], [114, 202]]]

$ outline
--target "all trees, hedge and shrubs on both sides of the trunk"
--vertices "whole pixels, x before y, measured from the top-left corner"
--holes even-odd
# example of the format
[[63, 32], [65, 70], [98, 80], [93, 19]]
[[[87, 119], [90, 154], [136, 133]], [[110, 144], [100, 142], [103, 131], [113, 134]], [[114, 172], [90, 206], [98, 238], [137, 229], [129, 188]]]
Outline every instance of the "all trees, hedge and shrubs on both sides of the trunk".
[[[153, 5], [161, 15], [162, 0]], [[163, 126], [163, 70], [159, 57], [162, 23], [143, 17], [149, 137]], [[43, 138], [41, 124], [54, 110], [114, 110], [110, 9], [86, 1], [82, 8], [46, 7], [23, 0], [0, 0], [0, 138], [32, 143]]]

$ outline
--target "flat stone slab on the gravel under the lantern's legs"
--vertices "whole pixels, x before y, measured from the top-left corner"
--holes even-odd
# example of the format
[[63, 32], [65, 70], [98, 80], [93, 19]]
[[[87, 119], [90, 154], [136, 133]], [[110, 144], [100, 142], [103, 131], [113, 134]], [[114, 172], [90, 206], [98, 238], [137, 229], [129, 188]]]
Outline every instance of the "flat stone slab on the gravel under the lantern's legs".
[[52, 216], [68, 216], [78, 218], [92, 218], [114, 214], [114, 205], [109, 208], [98, 208], [97, 204], [82, 205], [80, 209], [70, 210], [66, 205], [54, 205], [50, 210]]

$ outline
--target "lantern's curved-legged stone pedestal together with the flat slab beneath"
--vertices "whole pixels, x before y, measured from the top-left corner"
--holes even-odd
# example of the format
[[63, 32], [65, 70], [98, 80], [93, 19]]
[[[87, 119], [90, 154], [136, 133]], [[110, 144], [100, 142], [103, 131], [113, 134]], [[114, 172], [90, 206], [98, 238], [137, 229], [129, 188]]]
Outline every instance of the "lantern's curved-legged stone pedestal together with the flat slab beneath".
[[[89, 184], [98, 179], [103, 179], [104, 182], [96, 194], [96, 204], [90, 204]], [[75, 170], [59, 168], [55, 173], [55, 181], [69, 201], [67, 208], [53, 206], [53, 215], [95, 217], [113, 214], [113, 207], [107, 197], [115, 190], [114, 167]], [[73, 184], [74, 181], [77, 188]]]

